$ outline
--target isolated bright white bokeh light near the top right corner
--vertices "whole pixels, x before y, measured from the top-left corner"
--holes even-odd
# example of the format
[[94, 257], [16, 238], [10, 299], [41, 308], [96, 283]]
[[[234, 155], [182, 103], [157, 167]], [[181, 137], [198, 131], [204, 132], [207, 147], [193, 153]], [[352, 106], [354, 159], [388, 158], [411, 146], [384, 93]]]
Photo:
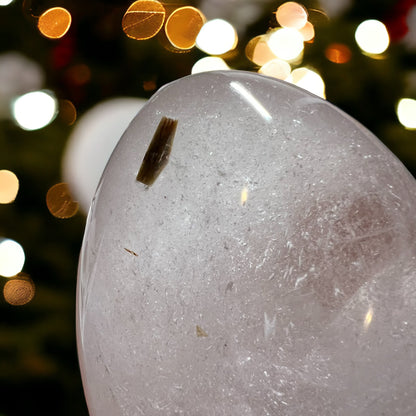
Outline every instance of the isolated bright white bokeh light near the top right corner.
[[383, 53], [390, 43], [386, 26], [375, 19], [365, 20], [358, 25], [355, 40], [363, 52], [372, 55]]

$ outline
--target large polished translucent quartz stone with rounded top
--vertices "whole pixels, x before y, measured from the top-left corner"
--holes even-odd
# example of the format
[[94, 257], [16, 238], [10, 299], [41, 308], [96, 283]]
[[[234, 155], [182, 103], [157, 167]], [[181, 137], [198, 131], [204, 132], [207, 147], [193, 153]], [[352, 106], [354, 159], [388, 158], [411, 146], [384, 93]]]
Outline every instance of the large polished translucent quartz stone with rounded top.
[[[164, 117], [176, 133], [148, 186]], [[316, 96], [241, 71], [163, 87], [85, 231], [91, 415], [414, 415], [415, 207], [396, 157]]]

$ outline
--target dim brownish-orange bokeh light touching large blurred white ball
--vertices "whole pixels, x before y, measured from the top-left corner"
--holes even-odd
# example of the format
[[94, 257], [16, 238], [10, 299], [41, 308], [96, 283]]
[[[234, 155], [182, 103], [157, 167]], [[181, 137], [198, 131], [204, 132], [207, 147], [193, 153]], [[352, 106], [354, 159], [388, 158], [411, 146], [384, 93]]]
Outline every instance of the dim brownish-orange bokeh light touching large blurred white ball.
[[46, 206], [56, 218], [66, 219], [73, 217], [79, 208], [74, 201], [67, 183], [57, 183], [46, 194]]

